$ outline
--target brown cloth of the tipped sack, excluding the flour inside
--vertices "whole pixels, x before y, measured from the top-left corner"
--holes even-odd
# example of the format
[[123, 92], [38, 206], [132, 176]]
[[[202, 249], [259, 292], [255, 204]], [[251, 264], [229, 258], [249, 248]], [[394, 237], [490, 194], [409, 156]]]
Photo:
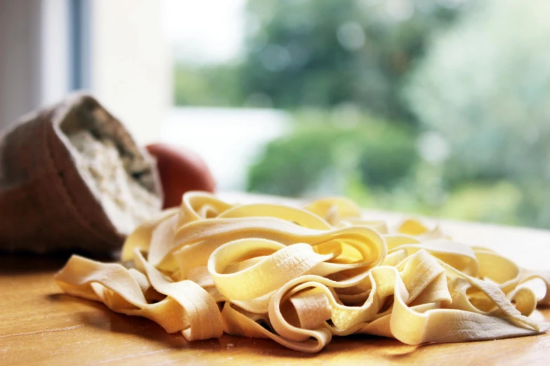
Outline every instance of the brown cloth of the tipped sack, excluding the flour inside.
[[0, 140], [0, 252], [86, 252], [107, 255], [125, 234], [105, 214], [75, 165], [67, 135], [88, 130], [110, 139], [131, 174], [159, 197], [155, 161], [122, 123], [88, 95], [74, 94], [23, 116]]

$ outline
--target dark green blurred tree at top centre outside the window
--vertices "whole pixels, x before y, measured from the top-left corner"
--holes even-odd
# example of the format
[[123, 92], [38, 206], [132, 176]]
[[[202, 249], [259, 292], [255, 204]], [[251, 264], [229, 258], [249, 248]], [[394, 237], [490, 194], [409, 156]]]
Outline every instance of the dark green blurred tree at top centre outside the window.
[[176, 104], [333, 107], [411, 121], [402, 78], [457, 0], [249, 0], [236, 67], [176, 68]]

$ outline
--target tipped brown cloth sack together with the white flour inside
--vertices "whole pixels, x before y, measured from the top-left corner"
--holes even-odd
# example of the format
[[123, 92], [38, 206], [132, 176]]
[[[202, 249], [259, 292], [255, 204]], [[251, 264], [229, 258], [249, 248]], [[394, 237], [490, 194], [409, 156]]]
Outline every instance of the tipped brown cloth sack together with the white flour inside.
[[89, 95], [0, 137], [0, 252], [109, 255], [162, 206], [154, 159]]

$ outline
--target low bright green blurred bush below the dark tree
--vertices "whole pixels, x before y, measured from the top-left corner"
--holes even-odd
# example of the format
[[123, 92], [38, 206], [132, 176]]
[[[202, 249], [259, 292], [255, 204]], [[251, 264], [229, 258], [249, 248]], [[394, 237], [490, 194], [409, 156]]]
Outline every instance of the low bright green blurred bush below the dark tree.
[[352, 178], [363, 186], [391, 189], [414, 171], [418, 155], [407, 128], [365, 116], [346, 125], [342, 117], [295, 114], [294, 133], [270, 142], [250, 168], [248, 190], [344, 194]]

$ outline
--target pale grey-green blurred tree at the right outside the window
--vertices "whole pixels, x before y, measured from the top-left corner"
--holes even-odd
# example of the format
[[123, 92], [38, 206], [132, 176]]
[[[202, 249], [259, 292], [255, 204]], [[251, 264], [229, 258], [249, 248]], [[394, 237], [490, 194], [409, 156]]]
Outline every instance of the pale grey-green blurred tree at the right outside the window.
[[[507, 179], [520, 188], [522, 223], [544, 227], [550, 227], [549, 13], [546, 0], [476, 3], [433, 42], [405, 90], [424, 127], [449, 147], [444, 184]], [[424, 148], [429, 155], [429, 143]]]

